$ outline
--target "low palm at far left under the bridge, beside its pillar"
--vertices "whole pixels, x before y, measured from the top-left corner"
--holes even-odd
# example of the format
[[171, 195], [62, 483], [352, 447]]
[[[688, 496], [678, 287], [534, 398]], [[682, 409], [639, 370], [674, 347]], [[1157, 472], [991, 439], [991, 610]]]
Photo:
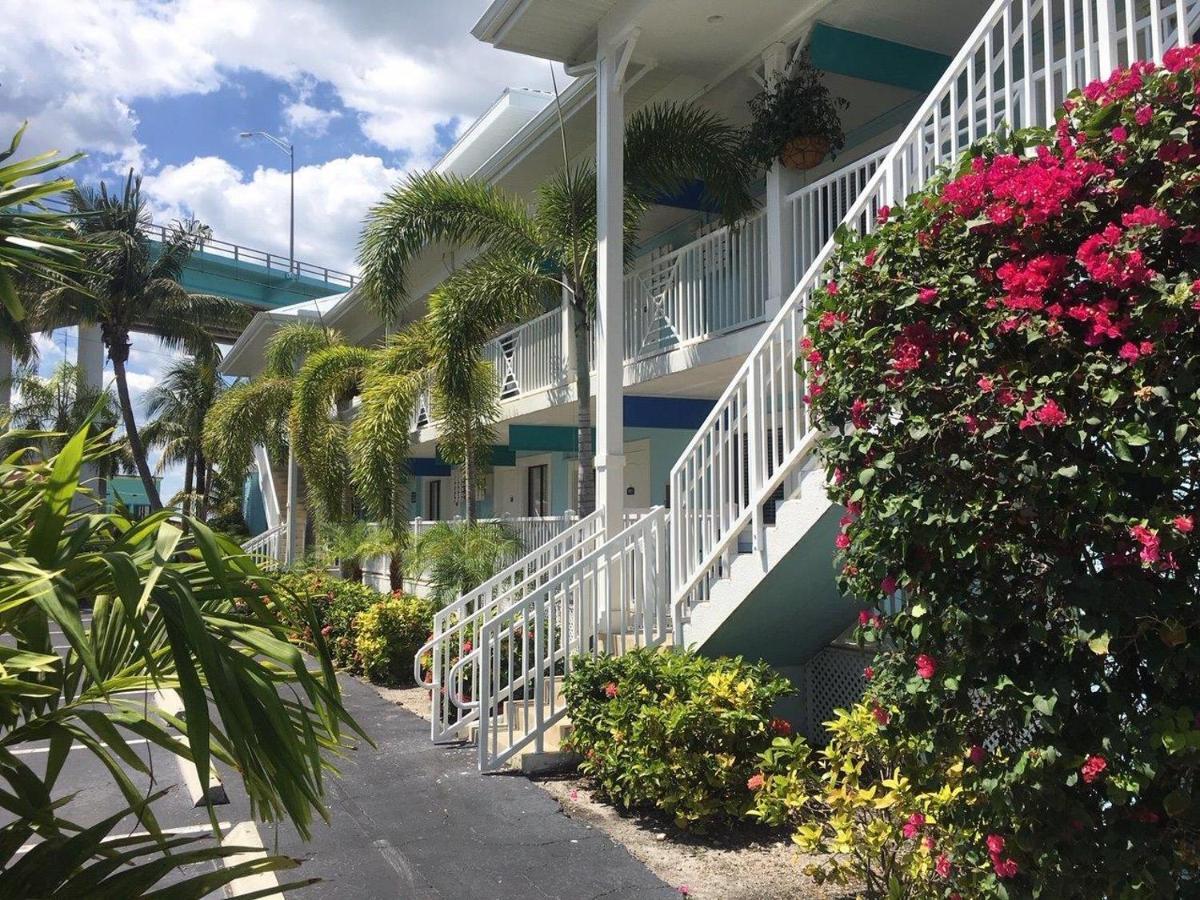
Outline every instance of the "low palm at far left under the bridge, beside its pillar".
[[13, 388], [11, 426], [41, 432], [38, 449], [43, 456], [62, 450], [67, 438], [85, 426], [94, 440], [110, 450], [97, 460], [95, 490], [100, 498], [107, 496], [113, 475], [132, 470], [128, 446], [113, 434], [121, 419], [116, 397], [107, 388], [84, 384], [78, 367], [60, 362], [49, 378], [25, 367], [13, 378]]

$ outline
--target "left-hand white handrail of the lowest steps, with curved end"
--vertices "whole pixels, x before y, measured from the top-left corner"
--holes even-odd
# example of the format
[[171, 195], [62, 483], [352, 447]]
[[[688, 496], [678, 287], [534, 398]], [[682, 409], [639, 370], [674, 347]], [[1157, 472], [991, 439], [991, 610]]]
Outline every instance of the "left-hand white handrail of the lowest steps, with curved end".
[[[466, 728], [478, 719], [478, 709], [463, 709], [460, 696], [479, 696], [478, 667], [469, 674], [467, 683], [457, 685], [454, 692], [448, 690], [446, 676], [460, 658], [469, 655], [479, 646], [479, 632], [484, 623], [490, 617], [502, 614], [539, 584], [586, 558], [602, 542], [604, 516], [593, 512], [434, 613], [433, 635], [413, 660], [413, 674], [418, 683], [430, 685], [430, 732], [433, 740], [463, 738]], [[426, 656], [432, 659], [422, 666]]]

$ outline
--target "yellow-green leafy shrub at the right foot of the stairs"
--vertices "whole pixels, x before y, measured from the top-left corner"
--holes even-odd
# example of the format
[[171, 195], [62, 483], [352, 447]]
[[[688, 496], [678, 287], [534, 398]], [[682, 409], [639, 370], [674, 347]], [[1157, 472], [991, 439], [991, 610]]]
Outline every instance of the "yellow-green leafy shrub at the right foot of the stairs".
[[791, 731], [770, 716], [790, 691], [766, 664], [638, 649], [581, 656], [564, 696], [571, 748], [604, 797], [703, 828], [749, 811], [758, 754]]

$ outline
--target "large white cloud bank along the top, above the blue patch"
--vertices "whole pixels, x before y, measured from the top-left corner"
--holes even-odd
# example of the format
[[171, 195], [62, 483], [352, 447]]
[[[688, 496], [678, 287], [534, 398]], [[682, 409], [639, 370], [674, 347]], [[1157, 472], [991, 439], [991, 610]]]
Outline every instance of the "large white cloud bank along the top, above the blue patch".
[[[42, 0], [0, 17], [0, 131], [36, 118], [37, 149], [145, 163], [131, 106], [208, 92], [252, 70], [328, 83], [362, 133], [428, 162], [434, 126], [469, 121], [505, 86], [546, 86], [548, 64], [469, 35], [486, 7], [426, 0]], [[65, 24], [70, 23], [70, 26]], [[284, 101], [296, 128], [335, 110]]]

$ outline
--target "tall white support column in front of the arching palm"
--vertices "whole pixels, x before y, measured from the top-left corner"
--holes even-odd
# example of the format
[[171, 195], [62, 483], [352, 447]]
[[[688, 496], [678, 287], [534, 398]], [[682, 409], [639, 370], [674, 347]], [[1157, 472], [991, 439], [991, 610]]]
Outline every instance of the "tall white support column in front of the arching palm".
[[596, 503], [610, 538], [625, 509], [622, 80], [635, 38], [605, 42], [596, 53]]

